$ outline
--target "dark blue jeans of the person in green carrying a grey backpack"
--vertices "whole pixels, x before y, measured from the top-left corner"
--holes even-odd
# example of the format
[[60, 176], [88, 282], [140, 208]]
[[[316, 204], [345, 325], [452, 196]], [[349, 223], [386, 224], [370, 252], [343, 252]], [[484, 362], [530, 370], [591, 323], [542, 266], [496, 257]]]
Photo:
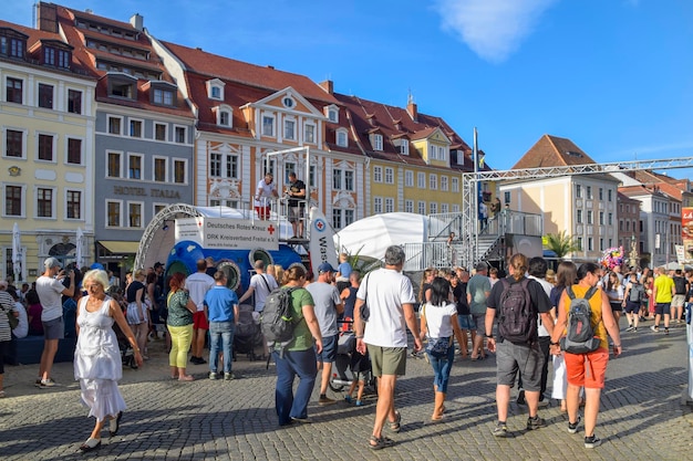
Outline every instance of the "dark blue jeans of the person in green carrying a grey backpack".
[[[279, 426], [288, 425], [291, 418], [308, 418], [308, 402], [316, 385], [318, 365], [316, 352], [311, 347], [306, 350], [286, 350], [283, 358], [272, 353], [277, 364], [277, 388], [275, 405]], [[293, 395], [293, 379], [299, 377], [299, 386]]]

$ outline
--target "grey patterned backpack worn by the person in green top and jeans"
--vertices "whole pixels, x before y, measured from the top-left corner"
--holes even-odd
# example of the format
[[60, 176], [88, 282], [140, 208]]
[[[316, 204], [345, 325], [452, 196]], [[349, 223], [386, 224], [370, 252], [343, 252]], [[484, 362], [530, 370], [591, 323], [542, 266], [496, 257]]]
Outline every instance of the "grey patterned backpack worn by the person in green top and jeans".
[[293, 306], [291, 293], [296, 287], [276, 289], [267, 295], [265, 310], [260, 318], [260, 326], [265, 340], [270, 348], [279, 349], [283, 353], [285, 347], [293, 340], [293, 329], [303, 318], [293, 317]]

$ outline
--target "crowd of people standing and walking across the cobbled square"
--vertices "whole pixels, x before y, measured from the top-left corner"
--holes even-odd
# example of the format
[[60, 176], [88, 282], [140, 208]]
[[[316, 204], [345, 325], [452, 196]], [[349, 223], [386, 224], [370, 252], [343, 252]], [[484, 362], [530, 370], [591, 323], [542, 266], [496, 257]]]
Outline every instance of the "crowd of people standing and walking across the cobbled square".
[[[508, 405], [517, 385], [517, 404], [528, 408], [528, 430], [546, 425], [539, 408], [554, 398], [560, 400], [560, 409], [568, 416], [568, 431], [576, 433], [581, 421], [579, 408], [583, 406], [585, 447], [593, 448], [601, 443], [594, 429], [610, 352], [618, 356], [622, 350], [621, 314], [625, 313], [627, 334], [637, 333], [645, 321], [653, 321], [653, 332], [668, 334], [672, 324], [682, 322], [684, 304], [693, 303], [693, 273], [663, 268], [632, 269], [622, 274], [620, 266], [583, 263], [578, 268], [563, 261], [554, 272], [542, 258], [528, 260], [515, 254], [508, 260], [507, 274], [486, 262], [472, 271], [426, 270], [415, 295], [410, 277], [402, 273], [404, 252], [400, 247], [390, 247], [384, 266], [363, 277], [351, 268], [346, 254], [340, 254], [339, 260], [337, 269], [327, 262], [321, 264], [314, 282], [300, 264], [283, 270], [256, 261], [256, 273], [239, 297], [227, 287], [226, 273], [217, 271], [209, 260], [199, 260], [197, 272], [187, 277], [178, 272], [165, 279], [164, 268], [157, 263], [147, 271], [128, 273], [120, 290], [102, 269], [63, 270], [56, 259], [49, 258], [44, 273], [32, 286], [24, 284], [17, 290], [0, 282], [0, 307], [7, 314], [0, 316], [0, 354], [8, 356], [18, 338], [43, 335], [35, 385], [50, 388], [55, 385], [51, 370], [58, 343], [70, 328], [69, 323], [76, 324], [75, 379], [80, 380], [90, 417], [96, 418], [92, 433], [80, 447], [81, 451], [90, 451], [100, 446], [106, 421], [110, 433], [117, 432], [126, 408], [117, 389], [122, 352], [114, 328], [133, 350], [133, 368], [148, 359], [148, 339], [151, 335], [158, 337], [155, 326], [165, 322], [172, 379], [195, 379], [187, 368], [189, 356], [195, 365], [208, 363], [209, 379], [232, 380], [239, 377], [232, 371], [239, 306], [251, 300], [251, 318], [259, 325], [268, 296], [285, 286], [291, 289], [293, 337], [281, 347], [262, 339], [261, 356], [273, 359], [277, 367], [279, 426], [310, 420], [308, 406], [319, 373], [317, 404], [337, 401], [327, 394], [332, 364], [344, 329], [341, 325], [346, 329], [353, 325], [354, 378], [345, 400], [363, 405], [365, 373], [375, 376], [377, 404], [370, 448], [393, 446], [395, 441], [385, 437], [383, 429], [387, 426], [396, 433], [402, 426], [394, 389], [397, 377], [406, 371], [407, 329], [413, 336], [411, 355], [423, 354], [432, 367], [432, 422], [445, 417], [455, 353], [461, 359], [482, 360], [489, 352], [496, 355], [497, 368], [494, 436], [509, 432]], [[526, 294], [524, 301], [517, 293]], [[581, 353], [563, 343], [570, 336], [576, 298], [589, 304], [590, 323], [598, 338], [593, 349]], [[73, 306], [74, 318], [68, 316], [69, 306]], [[526, 308], [531, 321], [510, 328], [507, 318], [513, 308]], [[550, 365], [554, 380], [549, 396]], [[0, 360], [0, 397], [4, 397], [3, 373]], [[299, 384], [294, 386], [297, 377]]]

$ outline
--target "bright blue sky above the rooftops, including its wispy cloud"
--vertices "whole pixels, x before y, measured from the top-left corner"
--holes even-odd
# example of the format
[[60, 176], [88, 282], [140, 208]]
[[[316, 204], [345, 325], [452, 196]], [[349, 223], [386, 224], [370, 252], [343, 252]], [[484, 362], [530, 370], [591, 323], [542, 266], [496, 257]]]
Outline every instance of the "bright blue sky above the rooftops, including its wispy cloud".
[[[31, 25], [33, 0], [2, 19]], [[691, 0], [64, 0], [155, 36], [444, 117], [494, 168], [544, 134], [596, 161], [693, 156]], [[260, 7], [261, 6], [261, 7]], [[690, 170], [671, 170], [684, 177]]]

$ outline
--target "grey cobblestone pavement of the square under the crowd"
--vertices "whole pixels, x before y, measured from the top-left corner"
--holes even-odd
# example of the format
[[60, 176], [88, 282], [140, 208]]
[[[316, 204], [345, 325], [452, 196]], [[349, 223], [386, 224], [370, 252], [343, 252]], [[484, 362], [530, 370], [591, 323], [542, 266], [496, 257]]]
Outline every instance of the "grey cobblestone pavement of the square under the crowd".
[[[624, 353], [609, 363], [597, 433], [603, 444], [585, 449], [582, 426], [567, 432], [567, 417], [555, 402], [539, 413], [548, 426], [526, 431], [526, 408], [510, 406], [507, 439], [490, 429], [496, 419], [495, 360], [455, 363], [443, 422], [427, 422], [433, 408], [432, 371], [410, 359], [397, 383], [396, 405], [403, 427], [392, 448], [366, 446], [375, 411], [340, 401], [309, 407], [310, 425], [278, 428], [273, 409], [275, 373], [270, 365], [240, 357], [234, 381], [206, 379], [207, 365], [188, 368], [198, 380], [168, 379], [163, 342], [149, 343], [151, 360], [126, 369], [121, 390], [128, 405], [118, 436], [104, 431], [101, 449], [77, 454], [93, 419], [80, 404], [72, 364], [58, 364], [60, 387], [33, 386], [38, 365], [6, 367], [0, 400], [0, 458], [3, 460], [691, 460], [693, 415], [682, 404], [687, 385], [685, 328], [669, 336], [648, 329], [622, 333]], [[318, 386], [317, 386], [318, 387]], [[333, 397], [342, 399], [341, 395]], [[385, 429], [386, 430], [386, 429]]]

